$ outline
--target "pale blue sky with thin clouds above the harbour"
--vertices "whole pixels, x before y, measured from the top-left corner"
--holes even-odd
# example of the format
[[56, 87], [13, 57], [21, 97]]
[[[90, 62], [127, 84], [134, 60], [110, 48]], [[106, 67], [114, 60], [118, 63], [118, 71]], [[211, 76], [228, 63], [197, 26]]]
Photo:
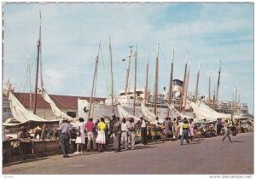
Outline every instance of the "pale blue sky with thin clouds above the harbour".
[[[240, 101], [253, 113], [253, 3], [4, 3], [3, 83], [15, 84], [17, 92], [30, 89], [28, 59], [34, 81], [39, 12], [42, 75], [49, 94], [90, 96], [101, 42], [96, 96], [110, 95], [109, 39], [115, 95], [125, 87], [131, 45], [133, 52], [137, 48], [137, 87], [145, 86], [149, 62], [148, 83], [153, 91], [159, 42], [159, 92], [169, 86], [173, 49], [177, 79], [183, 80], [189, 53], [193, 95], [199, 63], [199, 95], [208, 95], [209, 72], [213, 93], [221, 60], [218, 99], [232, 101], [237, 88]], [[133, 58], [130, 77], [133, 88]]]

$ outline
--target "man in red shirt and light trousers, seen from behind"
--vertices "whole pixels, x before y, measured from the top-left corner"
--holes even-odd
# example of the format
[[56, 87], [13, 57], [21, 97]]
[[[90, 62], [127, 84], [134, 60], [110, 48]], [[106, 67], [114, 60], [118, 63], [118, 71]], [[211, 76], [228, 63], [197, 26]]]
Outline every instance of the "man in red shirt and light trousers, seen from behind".
[[96, 150], [96, 136], [94, 132], [94, 124], [93, 124], [93, 118], [89, 118], [87, 123], [85, 124], [85, 130], [87, 132], [88, 137], [88, 143], [87, 143], [87, 151], [90, 151], [90, 143], [92, 141], [93, 143], [93, 149]]

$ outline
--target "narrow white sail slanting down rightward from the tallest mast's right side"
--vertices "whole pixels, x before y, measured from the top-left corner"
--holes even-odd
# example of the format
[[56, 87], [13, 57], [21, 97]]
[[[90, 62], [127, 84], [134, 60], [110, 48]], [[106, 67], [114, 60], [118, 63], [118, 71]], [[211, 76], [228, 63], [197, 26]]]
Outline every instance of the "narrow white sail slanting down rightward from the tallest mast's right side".
[[53, 113], [55, 113], [55, 116], [57, 118], [67, 118], [67, 119], [73, 119], [72, 117], [68, 116], [66, 113], [61, 112], [61, 109], [55, 105], [55, 101], [50, 99], [48, 93], [46, 90], [44, 90], [44, 87], [41, 87], [41, 95], [44, 99], [44, 101], [49, 103], [49, 106], [51, 107]]

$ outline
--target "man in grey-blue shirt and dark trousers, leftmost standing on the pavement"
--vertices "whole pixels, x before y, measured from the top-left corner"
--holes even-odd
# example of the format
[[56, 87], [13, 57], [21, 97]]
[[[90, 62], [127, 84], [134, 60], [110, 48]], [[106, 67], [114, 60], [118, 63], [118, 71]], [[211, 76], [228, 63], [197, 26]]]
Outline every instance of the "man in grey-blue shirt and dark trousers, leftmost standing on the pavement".
[[63, 158], [68, 158], [68, 143], [70, 139], [70, 131], [72, 130], [72, 127], [70, 124], [67, 123], [67, 118], [63, 118], [62, 124], [60, 124], [59, 130], [61, 132], [60, 136], [60, 144], [61, 144], [61, 150], [63, 153]]

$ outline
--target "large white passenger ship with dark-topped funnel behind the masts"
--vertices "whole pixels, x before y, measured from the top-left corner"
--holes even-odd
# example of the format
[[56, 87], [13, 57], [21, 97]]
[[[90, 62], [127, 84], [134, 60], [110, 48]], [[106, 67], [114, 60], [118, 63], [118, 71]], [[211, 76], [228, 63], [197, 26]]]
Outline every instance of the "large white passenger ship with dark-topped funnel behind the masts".
[[[181, 111], [181, 93], [183, 89], [183, 82], [178, 79], [173, 80], [173, 90], [172, 90], [172, 104], [175, 107], [175, 110], [168, 111], [169, 103], [168, 103], [168, 93], [164, 91], [162, 94], [157, 95], [156, 102], [156, 116], [159, 118], [166, 118], [167, 116], [176, 118], [178, 113]], [[154, 94], [148, 91], [148, 98], [145, 102], [145, 94], [144, 89], [136, 90], [136, 105], [135, 105], [135, 116], [138, 118], [141, 114], [143, 114], [141, 103], [145, 104], [148, 111], [154, 113]], [[189, 98], [189, 97], [188, 97]], [[189, 99], [194, 101], [193, 98]], [[206, 104], [207, 100], [201, 97], [201, 102]], [[213, 107], [211, 101], [211, 107]], [[90, 117], [97, 119], [102, 117], [110, 117], [111, 114], [115, 113], [115, 115], [119, 115], [119, 110], [117, 105], [121, 105], [125, 108], [127, 113], [131, 115], [134, 113], [133, 110], [134, 104], [134, 89], [129, 89], [127, 95], [125, 95], [125, 90], [121, 90], [118, 96], [114, 96], [113, 105], [111, 97], [108, 97], [105, 101], [94, 103], [91, 108]], [[233, 103], [234, 105], [234, 103]], [[233, 109], [232, 109], [233, 107]], [[78, 116], [81, 118], [89, 118], [88, 111], [90, 109], [90, 103], [86, 100], [78, 100]], [[232, 101], [219, 101], [218, 104], [214, 108], [218, 113], [227, 113], [230, 114], [232, 110], [234, 112], [240, 113], [240, 115], [244, 115], [248, 113], [247, 104], [236, 102], [235, 106], [232, 106]], [[169, 112], [169, 115], [167, 113]], [[196, 115], [193, 111], [192, 107], [189, 107], [187, 104], [186, 107], [183, 107], [183, 115], [188, 116], [190, 118], [196, 118]]]

